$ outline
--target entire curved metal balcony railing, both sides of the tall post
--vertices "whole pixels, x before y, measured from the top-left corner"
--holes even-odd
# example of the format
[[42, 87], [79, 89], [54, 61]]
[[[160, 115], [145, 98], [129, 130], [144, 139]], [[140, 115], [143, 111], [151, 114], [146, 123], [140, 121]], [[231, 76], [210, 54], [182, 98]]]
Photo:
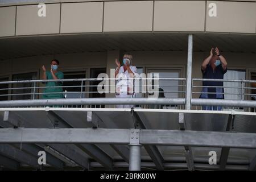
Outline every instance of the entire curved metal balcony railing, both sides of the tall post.
[[[44, 89], [53, 88], [44, 82], [62, 82], [62, 92], [44, 93]], [[104, 81], [104, 84], [102, 84]], [[116, 86], [120, 81], [131, 81], [127, 86], [130, 98], [115, 98]], [[223, 82], [225, 99], [199, 98], [204, 81]], [[101, 84], [100, 84], [101, 82]], [[253, 80], [216, 80], [192, 79], [191, 109], [215, 110], [205, 106], [221, 107], [221, 110], [256, 112], [256, 88], [251, 86]], [[100, 84], [100, 85], [99, 85]], [[111, 88], [113, 86], [113, 88]], [[63, 80], [21, 80], [0, 82], [0, 107], [114, 107], [114, 105], [132, 105], [145, 109], [185, 109], [186, 78], [159, 78], [158, 84], [152, 78], [83, 78]], [[108, 88], [103, 93], [98, 88]], [[150, 92], [151, 88], [151, 92]], [[154, 90], [154, 92], [152, 92]], [[122, 90], [118, 90], [122, 93]], [[154, 93], [158, 96], [154, 97]], [[187, 92], [189, 93], [189, 92]], [[205, 92], [204, 92], [205, 93]], [[63, 94], [64, 98], [43, 99], [48, 94]], [[216, 94], [216, 93], [207, 93]], [[222, 94], [220, 92], [220, 94]], [[213, 107], [210, 107], [213, 108]], [[218, 109], [217, 109], [218, 110]]]

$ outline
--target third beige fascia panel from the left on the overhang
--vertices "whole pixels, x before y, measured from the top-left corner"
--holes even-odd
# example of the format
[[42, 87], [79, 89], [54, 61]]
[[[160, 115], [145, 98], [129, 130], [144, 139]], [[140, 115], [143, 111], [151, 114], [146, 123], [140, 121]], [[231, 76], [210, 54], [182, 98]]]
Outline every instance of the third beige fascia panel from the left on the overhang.
[[64, 3], [60, 32], [101, 32], [102, 18], [103, 2]]

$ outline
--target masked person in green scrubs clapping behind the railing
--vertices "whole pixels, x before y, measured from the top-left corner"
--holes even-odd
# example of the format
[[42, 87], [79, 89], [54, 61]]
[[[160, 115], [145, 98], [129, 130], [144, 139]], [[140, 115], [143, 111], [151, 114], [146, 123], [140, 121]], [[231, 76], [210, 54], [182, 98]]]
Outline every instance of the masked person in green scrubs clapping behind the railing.
[[[59, 61], [56, 59], [53, 59], [51, 61], [51, 71], [46, 71], [46, 68], [42, 67], [43, 69], [43, 80], [59, 80], [64, 78], [63, 72], [58, 71]], [[63, 86], [62, 81], [48, 81], [45, 82], [46, 86], [50, 86], [48, 88], [45, 88], [43, 91], [42, 98], [44, 99], [51, 99], [51, 98], [64, 98], [63, 96], [63, 88], [61, 87], [55, 87], [55, 86]], [[56, 93], [55, 93], [56, 92]]]

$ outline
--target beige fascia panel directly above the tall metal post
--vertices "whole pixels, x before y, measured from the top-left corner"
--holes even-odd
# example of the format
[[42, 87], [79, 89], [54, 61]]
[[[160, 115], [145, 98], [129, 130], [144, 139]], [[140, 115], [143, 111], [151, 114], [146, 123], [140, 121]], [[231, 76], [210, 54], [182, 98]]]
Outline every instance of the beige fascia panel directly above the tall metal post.
[[155, 1], [154, 31], [204, 31], [204, 1]]

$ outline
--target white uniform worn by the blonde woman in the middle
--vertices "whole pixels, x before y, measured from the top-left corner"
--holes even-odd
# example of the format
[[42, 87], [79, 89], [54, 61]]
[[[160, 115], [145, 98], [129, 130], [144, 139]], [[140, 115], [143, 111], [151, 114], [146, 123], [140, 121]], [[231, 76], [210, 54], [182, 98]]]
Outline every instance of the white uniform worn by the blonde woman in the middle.
[[[135, 73], [137, 73], [137, 68], [136, 67], [134, 67], [134, 66], [130, 66], [130, 69], [131, 69], [131, 71], [135, 74]], [[117, 70], [117, 68], [115, 69], [115, 70]], [[123, 95], [123, 94], [127, 94], [127, 87], [131, 87], [131, 88], [133, 88], [133, 80], [131, 79], [131, 80], [128, 80], [128, 78], [129, 78], [129, 72], [128, 72], [128, 70], [126, 69], [126, 71], [124, 71], [124, 69], [123, 69], [123, 66], [121, 66], [120, 68], [119, 68], [119, 72], [118, 72], [119, 74], [120, 73], [123, 73], [125, 76], [126, 76], [126, 79], [123, 79], [123, 80], [121, 80], [121, 81], [118, 81], [117, 82], [117, 90], [119, 91], [119, 93], [121, 94], [121, 95]], [[120, 77], [121, 75], [119, 75], [119, 77]], [[122, 86], [118, 86], [118, 85], [122, 85]]]

